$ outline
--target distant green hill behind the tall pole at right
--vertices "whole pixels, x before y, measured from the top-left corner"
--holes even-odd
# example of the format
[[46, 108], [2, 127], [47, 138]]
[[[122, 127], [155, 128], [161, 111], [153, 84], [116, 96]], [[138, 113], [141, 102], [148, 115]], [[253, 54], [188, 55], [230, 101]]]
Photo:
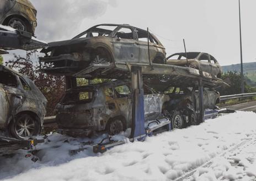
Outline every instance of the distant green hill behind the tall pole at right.
[[[228, 71], [241, 72], [241, 64], [226, 65], [226, 66], [222, 66], [222, 68], [223, 68], [223, 72], [228, 72]], [[244, 72], [244, 75], [246, 75], [251, 81], [254, 82], [253, 85], [255, 85], [256, 62], [243, 63], [243, 72]]]

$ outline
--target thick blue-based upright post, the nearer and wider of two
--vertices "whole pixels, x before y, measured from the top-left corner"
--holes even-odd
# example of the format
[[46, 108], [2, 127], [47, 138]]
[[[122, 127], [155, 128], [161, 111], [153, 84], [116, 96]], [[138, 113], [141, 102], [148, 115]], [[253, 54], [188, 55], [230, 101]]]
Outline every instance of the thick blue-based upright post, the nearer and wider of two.
[[131, 67], [132, 85], [132, 126], [130, 139], [143, 140], [146, 137], [144, 118], [144, 94], [142, 68]]

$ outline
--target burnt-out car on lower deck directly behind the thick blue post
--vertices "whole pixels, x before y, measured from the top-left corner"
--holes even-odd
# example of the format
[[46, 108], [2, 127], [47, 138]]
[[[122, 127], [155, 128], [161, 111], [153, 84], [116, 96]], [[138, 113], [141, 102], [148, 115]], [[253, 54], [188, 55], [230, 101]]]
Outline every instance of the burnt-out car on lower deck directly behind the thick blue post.
[[[167, 95], [145, 86], [145, 120], [160, 117], [167, 101]], [[131, 111], [130, 85], [120, 80], [69, 89], [55, 110], [59, 131], [71, 136], [117, 134], [131, 127]]]

